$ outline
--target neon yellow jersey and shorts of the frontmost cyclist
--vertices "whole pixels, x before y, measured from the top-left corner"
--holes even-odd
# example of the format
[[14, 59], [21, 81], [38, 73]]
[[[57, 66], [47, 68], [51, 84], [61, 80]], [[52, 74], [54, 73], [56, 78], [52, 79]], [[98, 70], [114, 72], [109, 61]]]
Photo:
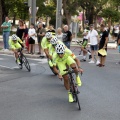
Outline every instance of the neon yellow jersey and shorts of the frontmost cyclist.
[[66, 74], [67, 72], [64, 71], [66, 69], [66, 65], [70, 66], [71, 64], [75, 63], [76, 56], [72, 53], [72, 51], [68, 48], [65, 48], [65, 53], [62, 58], [59, 57], [57, 53], [53, 54], [53, 65], [58, 66], [61, 75]]

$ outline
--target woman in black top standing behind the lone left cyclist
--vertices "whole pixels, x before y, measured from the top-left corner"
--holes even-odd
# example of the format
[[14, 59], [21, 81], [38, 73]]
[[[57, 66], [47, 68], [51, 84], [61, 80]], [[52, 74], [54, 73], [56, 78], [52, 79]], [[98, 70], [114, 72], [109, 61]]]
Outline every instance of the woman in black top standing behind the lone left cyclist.
[[25, 34], [24, 22], [22, 20], [19, 20], [19, 26], [17, 28], [16, 35], [23, 41], [24, 34]]

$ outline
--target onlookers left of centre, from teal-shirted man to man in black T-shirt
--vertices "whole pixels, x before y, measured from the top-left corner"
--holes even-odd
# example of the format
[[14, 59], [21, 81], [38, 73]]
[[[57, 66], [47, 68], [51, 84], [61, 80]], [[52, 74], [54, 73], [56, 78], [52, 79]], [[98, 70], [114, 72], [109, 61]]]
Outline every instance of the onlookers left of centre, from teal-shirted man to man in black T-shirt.
[[[9, 22], [9, 17], [5, 18], [5, 22], [1, 25], [3, 28], [3, 42], [4, 42], [4, 51], [9, 50], [9, 36], [11, 30], [11, 23]], [[7, 28], [8, 27], [8, 28]], [[7, 29], [6, 29], [7, 28]], [[52, 32], [53, 35], [56, 35], [59, 40], [63, 40], [65, 45], [70, 48], [70, 41], [72, 40], [72, 33], [69, 31], [68, 25], [64, 25], [63, 28], [54, 29], [53, 25], [45, 26], [43, 19], [39, 18], [36, 24], [31, 23], [30, 27], [25, 24], [23, 20], [19, 20], [17, 30], [15, 34], [25, 42], [28, 54], [35, 54], [35, 43], [38, 44], [37, 54], [43, 55], [41, 48], [42, 38], [45, 36], [46, 32]], [[32, 35], [34, 34], [34, 36]], [[32, 35], [32, 36], [31, 36]]]

